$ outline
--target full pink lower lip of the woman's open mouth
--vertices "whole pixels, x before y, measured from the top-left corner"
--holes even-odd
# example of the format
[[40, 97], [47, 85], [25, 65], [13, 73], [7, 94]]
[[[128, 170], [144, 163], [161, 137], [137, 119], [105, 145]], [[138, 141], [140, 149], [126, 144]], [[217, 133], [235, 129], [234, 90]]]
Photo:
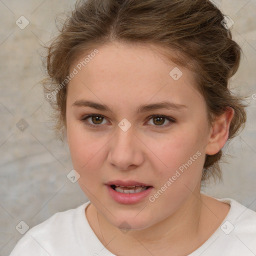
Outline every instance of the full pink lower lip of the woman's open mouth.
[[109, 195], [117, 202], [123, 204], [132, 204], [137, 203], [144, 199], [153, 189], [152, 186], [148, 187], [146, 190], [138, 192], [138, 193], [131, 193], [125, 194], [115, 191], [110, 185], [106, 185]]

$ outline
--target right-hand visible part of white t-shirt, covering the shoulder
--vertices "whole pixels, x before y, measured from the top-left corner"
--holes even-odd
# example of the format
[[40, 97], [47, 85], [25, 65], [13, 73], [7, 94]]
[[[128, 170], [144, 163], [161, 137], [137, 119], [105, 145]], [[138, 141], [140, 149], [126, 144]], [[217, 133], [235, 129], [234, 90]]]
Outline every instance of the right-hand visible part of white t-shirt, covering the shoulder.
[[230, 209], [215, 232], [189, 256], [255, 255], [256, 212], [231, 198], [215, 198]]

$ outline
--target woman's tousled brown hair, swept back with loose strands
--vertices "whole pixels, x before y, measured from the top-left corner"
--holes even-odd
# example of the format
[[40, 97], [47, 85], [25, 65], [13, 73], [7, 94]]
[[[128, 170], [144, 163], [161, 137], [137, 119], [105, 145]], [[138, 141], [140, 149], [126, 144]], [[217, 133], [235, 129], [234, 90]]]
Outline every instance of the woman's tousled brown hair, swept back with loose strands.
[[[47, 78], [43, 85], [45, 97], [55, 109], [56, 134], [63, 140], [66, 130], [63, 81], [67, 85], [65, 78], [70, 65], [84, 52], [119, 41], [150, 43], [178, 53], [166, 56], [194, 72], [197, 89], [207, 104], [209, 124], [230, 106], [234, 117], [228, 139], [237, 135], [244, 127], [247, 105], [241, 101], [245, 97], [228, 89], [228, 81], [238, 69], [241, 48], [231, 39], [230, 30], [222, 25], [223, 19], [224, 15], [209, 0], [77, 1], [60, 33], [47, 47]], [[218, 164], [221, 155], [222, 150], [206, 155], [202, 180], [210, 176], [221, 179]]]

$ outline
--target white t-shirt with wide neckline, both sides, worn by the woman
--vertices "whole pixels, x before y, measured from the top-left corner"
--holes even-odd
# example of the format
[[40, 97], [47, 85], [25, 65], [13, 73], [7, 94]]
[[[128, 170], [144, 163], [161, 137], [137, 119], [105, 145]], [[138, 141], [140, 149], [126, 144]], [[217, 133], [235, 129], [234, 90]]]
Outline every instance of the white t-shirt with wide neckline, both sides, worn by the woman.
[[[216, 198], [217, 199], [217, 198]], [[230, 210], [222, 224], [188, 256], [252, 256], [256, 254], [256, 212], [230, 198]], [[10, 256], [115, 256], [91, 229], [85, 207], [90, 201], [57, 212], [29, 229]]]

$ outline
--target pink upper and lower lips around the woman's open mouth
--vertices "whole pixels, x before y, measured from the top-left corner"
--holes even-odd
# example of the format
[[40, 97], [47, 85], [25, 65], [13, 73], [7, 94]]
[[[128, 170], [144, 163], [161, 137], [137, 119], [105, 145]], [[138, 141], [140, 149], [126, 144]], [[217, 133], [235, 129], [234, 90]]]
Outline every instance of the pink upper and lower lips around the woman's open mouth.
[[[121, 186], [134, 186], [134, 185], [141, 185], [141, 186], [149, 186], [146, 190], [138, 193], [120, 193], [115, 191], [110, 185], [121, 185]], [[121, 180], [113, 180], [106, 183], [106, 187], [108, 190], [109, 195], [118, 203], [123, 204], [134, 204], [138, 203], [142, 199], [144, 199], [153, 189], [152, 186], [147, 185], [145, 183], [137, 182], [137, 181], [121, 181]]]

